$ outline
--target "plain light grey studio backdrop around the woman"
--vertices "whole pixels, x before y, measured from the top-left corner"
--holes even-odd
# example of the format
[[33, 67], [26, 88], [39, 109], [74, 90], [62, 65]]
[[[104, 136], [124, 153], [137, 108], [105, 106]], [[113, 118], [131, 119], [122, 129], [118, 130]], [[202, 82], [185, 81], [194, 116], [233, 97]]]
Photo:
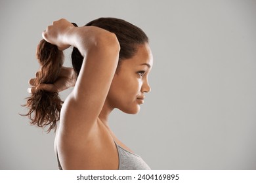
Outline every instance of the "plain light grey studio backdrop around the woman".
[[256, 169], [256, 1], [249, 0], [1, 0], [0, 169], [57, 169], [54, 133], [18, 115], [39, 68], [35, 48], [54, 20], [84, 25], [108, 16], [141, 27], [154, 54], [140, 113], [111, 116], [117, 137], [152, 169]]

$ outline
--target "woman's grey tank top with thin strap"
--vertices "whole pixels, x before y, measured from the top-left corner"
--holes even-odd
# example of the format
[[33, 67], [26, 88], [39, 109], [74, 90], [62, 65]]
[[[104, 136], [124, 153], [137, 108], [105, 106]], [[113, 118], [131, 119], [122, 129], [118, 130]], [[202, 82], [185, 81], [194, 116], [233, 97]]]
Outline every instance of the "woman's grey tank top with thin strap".
[[[115, 141], [114, 141], [115, 142]], [[119, 146], [116, 142], [116, 148], [119, 156], [119, 170], [150, 170], [150, 167], [143, 161], [143, 159], [137, 154], [133, 154]], [[58, 159], [58, 150], [56, 151], [58, 169], [62, 170], [60, 160]]]

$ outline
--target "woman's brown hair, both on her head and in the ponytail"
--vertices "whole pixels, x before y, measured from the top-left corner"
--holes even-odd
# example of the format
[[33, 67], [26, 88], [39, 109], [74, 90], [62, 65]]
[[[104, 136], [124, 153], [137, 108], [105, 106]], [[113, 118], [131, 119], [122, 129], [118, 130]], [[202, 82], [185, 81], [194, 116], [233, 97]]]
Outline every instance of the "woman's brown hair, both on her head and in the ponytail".
[[[74, 25], [77, 26], [76, 24]], [[148, 37], [142, 29], [125, 20], [117, 18], [98, 18], [85, 26], [100, 27], [116, 34], [120, 44], [117, 69], [123, 59], [132, 58], [136, 54], [139, 44], [148, 42]], [[39, 72], [35, 87], [43, 83], [53, 84], [63, 64], [62, 52], [53, 44], [42, 40], [37, 46], [37, 59], [41, 65], [41, 72]], [[82, 63], [83, 56], [81, 56], [79, 50], [74, 47], [72, 52], [72, 65], [77, 76], [79, 75]], [[60, 97], [58, 97], [58, 93], [38, 90], [28, 97], [25, 106], [29, 108], [29, 111], [28, 114], [23, 116], [30, 118], [30, 124], [36, 124], [39, 127], [49, 125], [48, 132], [51, 131], [51, 129], [56, 130], [56, 122], [60, 119], [62, 103]]]

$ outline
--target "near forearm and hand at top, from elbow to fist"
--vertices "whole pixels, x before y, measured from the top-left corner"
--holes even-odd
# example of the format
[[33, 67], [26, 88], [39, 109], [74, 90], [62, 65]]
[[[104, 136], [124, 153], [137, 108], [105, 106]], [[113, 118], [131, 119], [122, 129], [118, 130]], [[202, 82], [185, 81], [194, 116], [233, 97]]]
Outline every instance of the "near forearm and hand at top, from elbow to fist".
[[65, 19], [53, 22], [43, 31], [42, 36], [45, 41], [58, 46], [59, 50], [74, 46], [84, 57], [91, 48], [99, 48], [101, 51], [110, 48], [110, 52], [119, 50], [119, 42], [114, 33], [95, 26], [74, 27]]

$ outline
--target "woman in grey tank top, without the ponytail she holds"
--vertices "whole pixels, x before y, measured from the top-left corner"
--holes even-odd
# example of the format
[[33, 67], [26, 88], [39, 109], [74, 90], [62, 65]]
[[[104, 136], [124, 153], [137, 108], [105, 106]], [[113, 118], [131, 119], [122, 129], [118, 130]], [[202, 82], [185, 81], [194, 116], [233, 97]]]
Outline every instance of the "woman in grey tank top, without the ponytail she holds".
[[145, 33], [116, 18], [99, 18], [83, 27], [61, 19], [47, 27], [43, 39], [59, 50], [74, 46], [75, 73], [62, 67], [54, 84], [35, 87], [37, 78], [30, 80], [32, 93], [74, 86], [62, 105], [56, 131], [59, 169], [150, 169], [108, 125], [114, 108], [136, 114], [150, 92], [153, 58]]

